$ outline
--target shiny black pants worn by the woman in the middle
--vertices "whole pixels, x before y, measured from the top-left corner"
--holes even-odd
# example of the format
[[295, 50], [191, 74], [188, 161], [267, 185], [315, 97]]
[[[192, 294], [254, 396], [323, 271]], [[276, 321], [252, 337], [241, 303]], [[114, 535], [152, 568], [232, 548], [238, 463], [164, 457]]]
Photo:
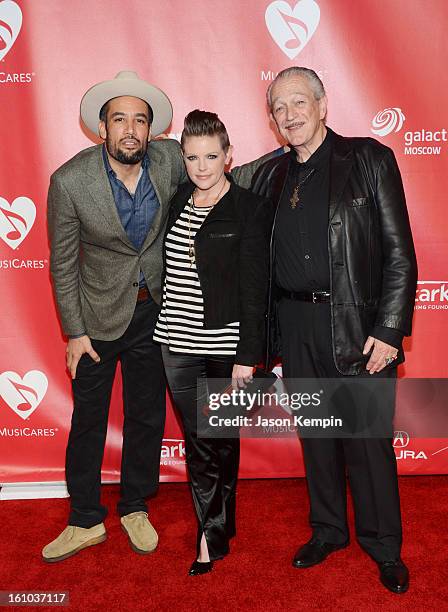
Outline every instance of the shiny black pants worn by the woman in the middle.
[[[205, 379], [230, 379], [234, 358], [173, 353], [166, 345], [162, 346], [162, 355], [170, 391], [184, 427], [187, 466], [199, 523], [197, 552], [204, 534], [210, 560], [222, 559], [229, 552], [229, 539], [235, 535], [240, 441], [239, 438], [201, 438], [197, 406], [206, 403]], [[198, 397], [198, 388], [201, 397]]]

